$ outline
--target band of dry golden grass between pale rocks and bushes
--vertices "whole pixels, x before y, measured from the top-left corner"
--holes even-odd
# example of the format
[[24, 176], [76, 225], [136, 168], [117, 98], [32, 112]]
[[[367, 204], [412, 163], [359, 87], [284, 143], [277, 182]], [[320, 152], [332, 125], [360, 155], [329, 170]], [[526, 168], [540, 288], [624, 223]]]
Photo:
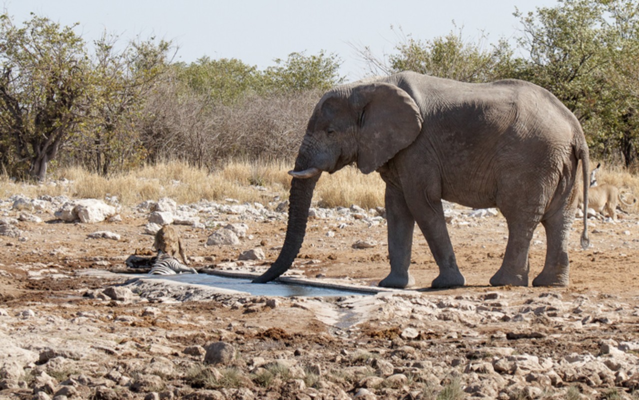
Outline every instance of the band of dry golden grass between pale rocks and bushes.
[[[596, 165], [596, 163], [593, 163]], [[234, 198], [240, 202], [272, 201], [279, 195], [288, 197], [292, 163], [273, 161], [256, 163], [231, 161], [219, 170], [208, 172], [185, 163], [168, 162], [144, 166], [126, 175], [101, 177], [81, 168], [66, 168], [44, 184], [16, 183], [0, 175], [0, 198], [15, 194], [37, 198], [42, 195], [66, 195], [71, 198], [105, 198], [117, 196], [123, 205], [136, 205], [144, 200], [173, 198], [178, 204], [199, 200], [220, 201]], [[626, 170], [602, 164], [597, 180], [639, 195], [639, 177]], [[266, 190], [259, 189], [266, 188]], [[348, 166], [330, 175], [324, 173], [314, 193], [314, 201], [322, 207], [349, 207], [357, 204], [364, 209], [383, 206], [385, 185], [377, 173], [364, 175]], [[633, 210], [637, 211], [635, 204]]]

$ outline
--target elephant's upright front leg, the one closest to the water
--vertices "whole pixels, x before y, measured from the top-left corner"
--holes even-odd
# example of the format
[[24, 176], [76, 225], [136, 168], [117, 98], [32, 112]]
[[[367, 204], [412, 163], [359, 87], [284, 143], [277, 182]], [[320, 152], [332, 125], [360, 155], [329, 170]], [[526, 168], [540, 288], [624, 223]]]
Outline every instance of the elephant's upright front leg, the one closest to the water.
[[385, 201], [390, 273], [380, 281], [380, 286], [401, 289], [411, 287], [415, 285], [415, 279], [408, 273], [408, 267], [410, 267], [415, 220], [406, 206], [403, 193], [390, 184], [386, 186]]

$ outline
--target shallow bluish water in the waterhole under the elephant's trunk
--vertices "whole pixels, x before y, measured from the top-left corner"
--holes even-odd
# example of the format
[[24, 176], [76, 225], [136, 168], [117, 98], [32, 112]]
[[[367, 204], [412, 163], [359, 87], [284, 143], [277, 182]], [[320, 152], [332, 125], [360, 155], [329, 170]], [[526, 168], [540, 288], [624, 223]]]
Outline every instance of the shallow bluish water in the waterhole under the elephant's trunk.
[[370, 294], [366, 292], [329, 289], [313, 285], [298, 285], [284, 282], [269, 282], [268, 284], [253, 284], [246, 278], [229, 278], [228, 276], [208, 274], [180, 274], [180, 275], [146, 275], [148, 278], [160, 278], [181, 282], [183, 284], [197, 284], [220, 287], [222, 289], [248, 292], [254, 296], [351, 296]]

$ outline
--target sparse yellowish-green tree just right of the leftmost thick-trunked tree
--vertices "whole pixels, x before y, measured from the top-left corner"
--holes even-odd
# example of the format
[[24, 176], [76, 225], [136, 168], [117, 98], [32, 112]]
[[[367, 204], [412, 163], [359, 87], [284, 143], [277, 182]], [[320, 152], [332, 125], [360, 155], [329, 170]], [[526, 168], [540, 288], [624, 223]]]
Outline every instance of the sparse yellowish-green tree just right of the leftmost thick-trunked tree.
[[145, 99], [169, 68], [171, 43], [133, 40], [116, 50], [117, 36], [95, 42], [88, 118], [70, 149], [91, 170], [108, 175], [141, 163], [145, 151], [133, 124]]

